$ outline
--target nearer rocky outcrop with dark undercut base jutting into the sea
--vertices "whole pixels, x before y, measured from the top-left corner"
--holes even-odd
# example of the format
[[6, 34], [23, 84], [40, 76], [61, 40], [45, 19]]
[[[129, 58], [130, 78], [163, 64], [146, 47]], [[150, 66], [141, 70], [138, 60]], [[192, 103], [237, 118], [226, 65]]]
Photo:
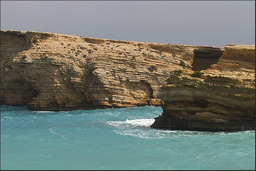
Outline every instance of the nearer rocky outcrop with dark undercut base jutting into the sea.
[[157, 97], [154, 128], [201, 131], [255, 129], [255, 45], [226, 45], [217, 64], [173, 70]]

